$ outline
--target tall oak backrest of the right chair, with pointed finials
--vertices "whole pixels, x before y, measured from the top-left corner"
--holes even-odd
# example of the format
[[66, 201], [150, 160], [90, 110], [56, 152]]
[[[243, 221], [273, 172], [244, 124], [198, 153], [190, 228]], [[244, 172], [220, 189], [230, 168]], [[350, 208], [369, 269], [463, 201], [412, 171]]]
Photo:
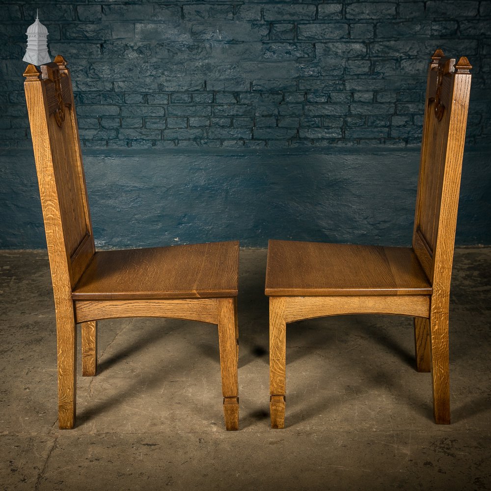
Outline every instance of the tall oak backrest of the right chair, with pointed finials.
[[440, 50], [426, 88], [412, 245], [430, 281], [450, 288], [470, 92], [470, 66]]

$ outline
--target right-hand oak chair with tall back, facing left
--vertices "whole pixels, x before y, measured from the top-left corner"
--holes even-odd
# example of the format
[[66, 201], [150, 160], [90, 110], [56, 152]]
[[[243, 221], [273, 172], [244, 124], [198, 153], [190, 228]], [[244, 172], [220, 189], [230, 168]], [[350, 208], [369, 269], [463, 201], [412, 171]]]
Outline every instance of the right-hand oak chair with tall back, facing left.
[[428, 70], [412, 247], [270, 241], [270, 411], [285, 418], [286, 324], [338, 314], [414, 318], [416, 366], [432, 373], [435, 422], [450, 423], [448, 306], [469, 102], [467, 58]]

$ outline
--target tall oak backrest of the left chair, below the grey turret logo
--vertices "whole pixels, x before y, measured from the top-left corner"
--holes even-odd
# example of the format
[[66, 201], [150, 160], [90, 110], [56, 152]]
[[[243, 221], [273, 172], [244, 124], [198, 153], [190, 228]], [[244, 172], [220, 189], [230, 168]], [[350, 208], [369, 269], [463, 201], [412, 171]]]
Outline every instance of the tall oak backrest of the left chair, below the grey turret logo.
[[95, 250], [70, 73], [56, 56], [24, 76], [55, 297], [59, 282], [68, 295]]

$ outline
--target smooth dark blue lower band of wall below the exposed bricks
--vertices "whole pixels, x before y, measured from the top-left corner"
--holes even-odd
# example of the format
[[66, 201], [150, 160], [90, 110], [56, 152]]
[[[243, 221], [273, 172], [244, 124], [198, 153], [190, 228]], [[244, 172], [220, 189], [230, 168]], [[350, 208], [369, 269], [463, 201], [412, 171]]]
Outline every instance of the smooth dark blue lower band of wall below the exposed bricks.
[[[1, 247], [44, 247], [32, 155], [3, 152]], [[239, 239], [409, 245], [419, 153], [88, 150], [85, 173], [98, 247]], [[461, 245], [491, 244], [488, 153], [464, 158]]]

